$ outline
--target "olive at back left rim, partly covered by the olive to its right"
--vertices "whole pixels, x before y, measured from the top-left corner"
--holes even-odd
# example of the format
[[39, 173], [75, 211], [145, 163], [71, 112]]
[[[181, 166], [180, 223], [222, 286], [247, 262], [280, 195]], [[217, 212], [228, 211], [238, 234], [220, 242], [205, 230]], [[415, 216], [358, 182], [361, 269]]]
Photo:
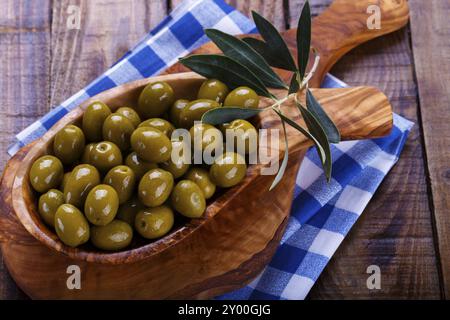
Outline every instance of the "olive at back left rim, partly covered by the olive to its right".
[[111, 114], [111, 109], [100, 101], [92, 102], [83, 114], [82, 129], [87, 141], [102, 140], [102, 123]]

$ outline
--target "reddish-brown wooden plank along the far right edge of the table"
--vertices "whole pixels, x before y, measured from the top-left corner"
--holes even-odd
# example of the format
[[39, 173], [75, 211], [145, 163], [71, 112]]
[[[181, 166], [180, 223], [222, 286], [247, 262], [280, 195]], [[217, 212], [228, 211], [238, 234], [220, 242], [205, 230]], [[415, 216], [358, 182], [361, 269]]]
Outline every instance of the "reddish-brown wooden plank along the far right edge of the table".
[[419, 88], [443, 292], [450, 299], [450, 38], [448, 1], [410, 1], [412, 46]]

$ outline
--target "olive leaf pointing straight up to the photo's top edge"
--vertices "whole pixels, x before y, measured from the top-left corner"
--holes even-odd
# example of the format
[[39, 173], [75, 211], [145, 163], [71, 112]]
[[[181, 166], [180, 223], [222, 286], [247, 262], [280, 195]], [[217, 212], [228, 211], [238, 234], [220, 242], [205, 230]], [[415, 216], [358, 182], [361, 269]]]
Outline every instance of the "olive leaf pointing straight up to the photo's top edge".
[[302, 13], [297, 25], [297, 64], [300, 79], [305, 77], [311, 48], [311, 9], [309, 2], [303, 5]]

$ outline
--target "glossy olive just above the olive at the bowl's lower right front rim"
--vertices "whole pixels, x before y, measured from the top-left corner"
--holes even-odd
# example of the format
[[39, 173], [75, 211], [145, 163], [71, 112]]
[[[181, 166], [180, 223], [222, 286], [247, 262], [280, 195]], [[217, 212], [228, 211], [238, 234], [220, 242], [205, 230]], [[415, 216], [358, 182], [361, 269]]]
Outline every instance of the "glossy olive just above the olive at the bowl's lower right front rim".
[[139, 200], [147, 207], [157, 207], [169, 198], [172, 189], [172, 174], [162, 169], [152, 169], [139, 182]]

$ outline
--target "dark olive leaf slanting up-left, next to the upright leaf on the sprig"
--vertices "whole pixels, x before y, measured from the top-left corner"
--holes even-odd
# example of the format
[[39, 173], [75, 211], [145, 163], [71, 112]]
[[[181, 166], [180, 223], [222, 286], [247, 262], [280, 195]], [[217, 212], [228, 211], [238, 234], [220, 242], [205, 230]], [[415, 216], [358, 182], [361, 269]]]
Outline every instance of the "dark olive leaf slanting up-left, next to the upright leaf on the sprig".
[[274, 53], [274, 55], [271, 56], [276, 58], [277, 61], [283, 61], [283, 63], [285, 63], [285, 68], [283, 69], [294, 72], [297, 71], [297, 66], [295, 65], [294, 59], [292, 58], [286, 42], [284, 42], [283, 37], [274, 25], [255, 11], [252, 11], [252, 16], [253, 21], [256, 24], [256, 28], [266, 41], [265, 43], [267, 47], [269, 47]]

